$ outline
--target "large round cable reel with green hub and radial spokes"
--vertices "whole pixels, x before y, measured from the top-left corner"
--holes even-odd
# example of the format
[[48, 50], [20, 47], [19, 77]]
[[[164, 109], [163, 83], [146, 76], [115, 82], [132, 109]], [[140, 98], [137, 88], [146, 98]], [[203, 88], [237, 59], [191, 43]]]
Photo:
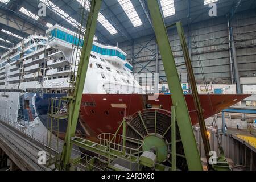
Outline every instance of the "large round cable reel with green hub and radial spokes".
[[[143, 140], [143, 152], [156, 155], [156, 163], [171, 166], [171, 112], [163, 109], [144, 109], [127, 119], [126, 137]], [[127, 147], [134, 143], [126, 141]], [[179, 128], [176, 124], [176, 167], [188, 170]]]

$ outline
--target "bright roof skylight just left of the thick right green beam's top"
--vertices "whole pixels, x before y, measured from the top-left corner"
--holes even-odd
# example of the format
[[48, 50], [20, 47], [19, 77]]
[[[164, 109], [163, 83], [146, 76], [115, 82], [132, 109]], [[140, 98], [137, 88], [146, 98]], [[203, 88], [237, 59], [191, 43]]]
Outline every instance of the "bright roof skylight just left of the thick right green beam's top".
[[117, 1], [121, 5], [123, 11], [125, 11], [128, 18], [131, 20], [131, 23], [133, 23], [133, 26], [134, 27], [141, 26], [142, 25], [141, 19], [139, 18], [139, 15], [133, 6], [133, 3], [131, 3], [130, 0], [117, 0]]

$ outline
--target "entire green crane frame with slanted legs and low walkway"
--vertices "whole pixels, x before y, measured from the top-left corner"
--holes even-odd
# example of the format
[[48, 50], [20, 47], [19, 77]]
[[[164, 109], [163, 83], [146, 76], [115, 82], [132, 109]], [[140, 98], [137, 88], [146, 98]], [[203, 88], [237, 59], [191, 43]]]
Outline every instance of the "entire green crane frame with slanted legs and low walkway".
[[[84, 88], [85, 84], [85, 77], [86, 77], [86, 72], [89, 64], [89, 56], [90, 56], [90, 51], [92, 49], [92, 43], [93, 43], [93, 36], [94, 32], [96, 29], [96, 24], [97, 24], [97, 17], [98, 13], [100, 11], [100, 6], [101, 6], [102, 0], [92, 0], [91, 1], [91, 7], [90, 7], [90, 12], [88, 16], [88, 21], [86, 24], [86, 34], [84, 37], [84, 46], [82, 47], [82, 53], [80, 57], [80, 62], [79, 62], [79, 68], [77, 71], [77, 77], [76, 77], [76, 82], [75, 82], [75, 88], [72, 96], [67, 96], [64, 99], [69, 101], [69, 113], [68, 113], [68, 127], [67, 127], [67, 132], [65, 135], [65, 141], [64, 141], [64, 146], [63, 146], [63, 151], [61, 153], [60, 157], [60, 169], [65, 169], [68, 170], [71, 167], [71, 161], [74, 161], [71, 159], [71, 152], [72, 152], [72, 145], [75, 144], [76, 146], [85, 148], [86, 150], [92, 151], [96, 154], [102, 155], [104, 158], [108, 159], [107, 163], [109, 163], [109, 159], [113, 159], [116, 156], [118, 156], [120, 159], [125, 159], [125, 160], [130, 160], [130, 162], [138, 162], [138, 168], [139, 165], [141, 164], [142, 166], [148, 166], [148, 167], [153, 167], [155, 164], [155, 158], [156, 156], [153, 154], [152, 151], [147, 151], [147, 155], [150, 155], [150, 158], [148, 158], [147, 155], [139, 156], [139, 155], [133, 155], [133, 154], [126, 154], [126, 149], [128, 148], [126, 146], [126, 140], [139, 144], [138, 147], [138, 152], [137, 154], [140, 153], [141, 148], [143, 148], [143, 144], [146, 141], [143, 140], [134, 140], [132, 138], [126, 137], [126, 126], [129, 125], [129, 122], [127, 122], [126, 125], [126, 118], [123, 119], [121, 125], [119, 126], [118, 130], [116, 131], [115, 134], [111, 135], [112, 139], [107, 141], [106, 146], [102, 146], [102, 144], [99, 143], [94, 143], [89, 140], [75, 137], [75, 131], [76, 131], [76, 126], [77, 126], [77, 119], [79, 117], [79, 110], [80, 110], [80, 104], [81, 104], [81, 98], [82, 98], [82, 90]], [[176, 169], [176, 148], [175, 144], [175, 130], [176, 130], [176, 123], [177, 127], [179, 129], [181, 141], [183, 144], [184, 148], [184, 156], [187, 161], [187, 166], [189, 170], [197, 170], [201, 171], [203, 170], [203, 166], [201, 164], [201, 158], [199, 154], [199, 150], [197, 148], [197, 142], [195, 139], [195, 136], [193, 134], [193, 127], [191, 124], [191, 118], [189, 116], [188, 112], [188, 107], [187, 103], [185, 101], [185, 97], [183, 94], [183, 90], [181, 88], [180, 80], [179, 80], [179, 75], [177, 73], [177, 68], [174, 60], [174, 55], [172, 54], [172, 49], [171, 45], [168, 39], [168, 34], [166, 30], [166, 26], [164, 24], [164, 20], [162, 17], [162, 14], [160, 12], [160, 7], [158, 0], [147, 0], [147, 5], [148, 9], [150, 10], [150, 15], [152, 18], [152, 23], [154, 26], [154, 31], [156, 35], [156, 40], [158, 42], [159, 46], [159, 51], [162, 55], [162, 61], [164, 65], [164, 70], [166, 72], [166, 77], [168, 81], [168, 85], [171, 91], [171, 100], [174, 106], [172, 106], [171, 111], [172, 111], [172, 118], [171, 118], [171, 134], [172, 134], [172, 168], [168, 168], [164, 165], [157, 164], [158, 167], [155, 167], [156, 169]], [[183, 29], [181, 27], [180, 23], [177, 23], [177, 28], [178, 32], [180, 35], [181, 39], [181, 44], [183, 46], [183, 51], [187, 49], [187, 45], [185, 43], [184, 35], [183, 35]], [[184, 56], [187, 58], [187, 52], [184, 51]], [[187, 60], [187, 65], [189, 59]], [[188, 69], [191, 71], [191, 63], [190, 67]], [[193, 78], [193, 72], [189, 76], [192, 76]], [[194, 79], [193, 79], [194, 80]], [[196, 95], [196, 97], [198, 97]], [[196, 105], [199, 106], [200, 109], [200, 101], [196, 100]], [[200, 111], [200, 110], [199, 110]], [[199, 113], [199, 114], [202, 114]], [[142, 119], [143, 120], [143, 119]], [[123, 127], [121, 127], [123, 126]], [[205, 128], [205, 126], [203, 125]], [[114, 144], [113, 141], [117, 140], [117, 135], [119, 130], [122, 129], [122, 150], [116, 150], [115, 148], [110, 148], [110, 144]], [[104, 138], [104, 134], [99, 135], [99, 139], [103, 137], [103, 140], [106, 141]], [[110, 138], [110, 137], [109, 137]], [[210, 150], [209, 148], [209, 141], [205, 138], [205, 144], [207, 146], [205, 147], [208, 152]], [[119, 146], [119, 144], [117, 144]], [[138, 160], [139, 159], [139, 160]], [[110, 164], [107, 164], [108, 167], [112, 169], [118, 170], [118, 167], [114, 167]]]

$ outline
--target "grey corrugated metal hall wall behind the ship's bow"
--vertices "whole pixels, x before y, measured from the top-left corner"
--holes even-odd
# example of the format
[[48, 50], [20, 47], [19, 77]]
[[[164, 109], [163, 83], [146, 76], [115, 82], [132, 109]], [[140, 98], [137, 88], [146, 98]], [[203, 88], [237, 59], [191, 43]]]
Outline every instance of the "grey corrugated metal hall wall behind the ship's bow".
[[[253, 76], [256, 73], [256, 11], [248, 10], [237, 13], [232, 20], [233, 35], [236, 46], [238, 69], [240, 76]], [[199, 23], [191, 23], [190, 28], [192, 65], [198, 82], [203, 78], [201, 66], [207, 80], [231, 82], [228, 19], [226, 16], [213, 18]], [[185, 36], [188, 26], [184, 26]], [[176, 65], [183, 64], [183, 53], [175, 29], [168, 30]], [[188, 37], [188, 36], [187, 36]], [[188, 40], [187, 40], [188, 42]], [[154, 35], [145, 36], [134, 43], [119, 43], [119, 47], [127, 53], [132, 61], [134, 73], [156, 72], [156, 42]], [[199, 61], [200, 60], [200, 61]], [[166, 80], [161, 56], [158, 56], [159, 81]], [[180, 75], [186, 72], [184, 66], [178, 67]]]

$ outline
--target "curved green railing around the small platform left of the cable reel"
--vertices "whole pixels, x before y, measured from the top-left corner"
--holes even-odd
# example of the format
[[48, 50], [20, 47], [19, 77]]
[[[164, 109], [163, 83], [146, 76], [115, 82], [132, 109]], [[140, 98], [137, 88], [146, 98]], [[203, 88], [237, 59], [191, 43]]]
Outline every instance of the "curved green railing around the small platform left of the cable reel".
[[100, 156], [107, 154], [109, 168], [121, 170], [141, 169], [139, 158], [144, 142], [121, 134], [102, 133], [98, 135]]

